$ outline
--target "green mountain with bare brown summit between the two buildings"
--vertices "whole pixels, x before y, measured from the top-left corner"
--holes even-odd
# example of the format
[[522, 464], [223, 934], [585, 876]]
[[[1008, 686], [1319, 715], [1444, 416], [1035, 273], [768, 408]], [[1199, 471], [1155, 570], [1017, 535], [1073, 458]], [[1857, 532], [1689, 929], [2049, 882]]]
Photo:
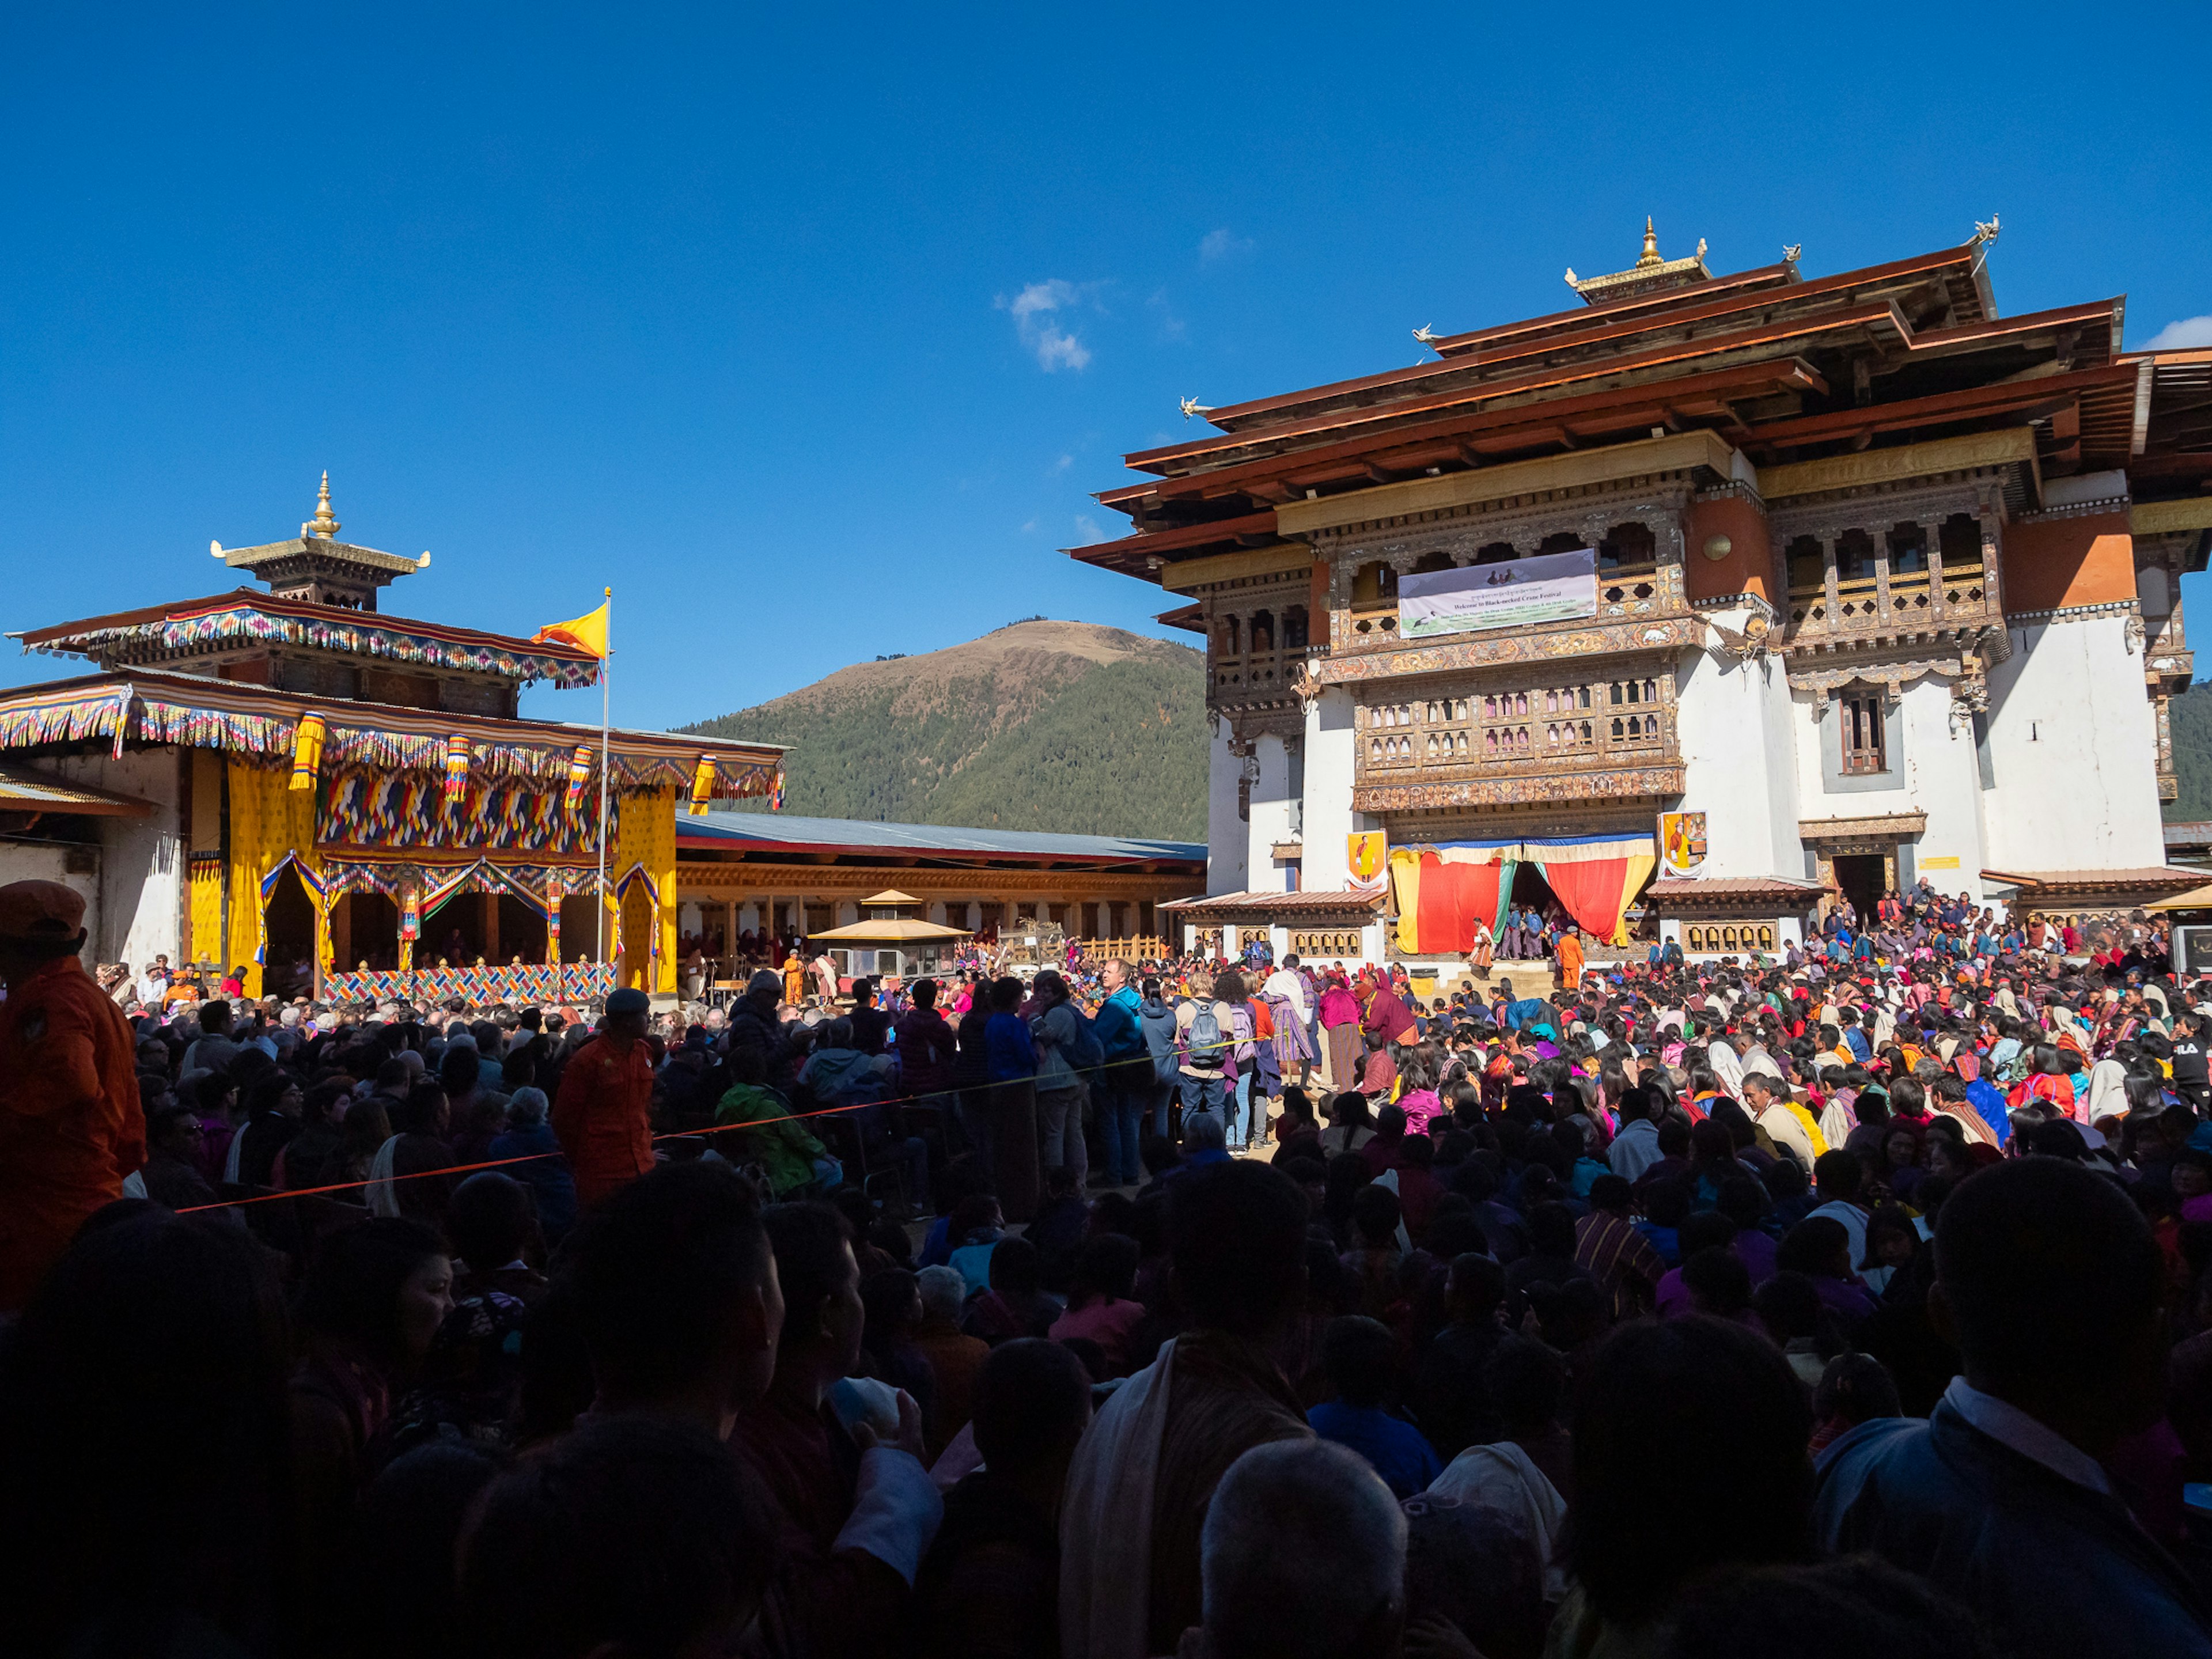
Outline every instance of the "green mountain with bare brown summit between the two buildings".
[[785, 812], [1206, 841], [1206, 657], [1119, 628], [1015, 622], [681, 730], [790, 743]]

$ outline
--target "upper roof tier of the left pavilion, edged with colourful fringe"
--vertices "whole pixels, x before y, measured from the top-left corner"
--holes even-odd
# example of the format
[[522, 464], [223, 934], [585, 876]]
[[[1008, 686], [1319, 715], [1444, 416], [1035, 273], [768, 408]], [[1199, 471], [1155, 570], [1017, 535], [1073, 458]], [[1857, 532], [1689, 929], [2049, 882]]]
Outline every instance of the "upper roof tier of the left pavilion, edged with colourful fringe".
[[257, 588], [55, 622], [29, 628], [18, 639], [24, 650], [126, 661], [157, 661], [226, 641], [265, 641], [425, 668], [462, 668], [522, 684], [533, 679], [555, 686], [599, 684], [599, 659], [577, 646], [416, 622], [383, 611], [347, 611], [312, 599], [279, 599]]

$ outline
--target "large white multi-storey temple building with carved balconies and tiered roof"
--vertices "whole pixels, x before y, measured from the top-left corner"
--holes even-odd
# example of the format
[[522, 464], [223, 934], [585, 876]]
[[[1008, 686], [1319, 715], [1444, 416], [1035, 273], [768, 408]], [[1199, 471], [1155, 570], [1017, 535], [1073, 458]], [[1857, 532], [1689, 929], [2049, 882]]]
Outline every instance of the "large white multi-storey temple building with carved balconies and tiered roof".
[[1214, 434], [1128, 456], [1128, 535], [1071, 553], [1206, 637], [1190, 936], [1449, 958], [1513, 898], [1741, 956], [1922, 876], [2192, 885], [2159, 807], [2212, 352], [2126, 352], [2121, 299], [2004, 316], [1995, 232], [1809, 276], [1646, 226], [1568, 310], [1186, 403]]

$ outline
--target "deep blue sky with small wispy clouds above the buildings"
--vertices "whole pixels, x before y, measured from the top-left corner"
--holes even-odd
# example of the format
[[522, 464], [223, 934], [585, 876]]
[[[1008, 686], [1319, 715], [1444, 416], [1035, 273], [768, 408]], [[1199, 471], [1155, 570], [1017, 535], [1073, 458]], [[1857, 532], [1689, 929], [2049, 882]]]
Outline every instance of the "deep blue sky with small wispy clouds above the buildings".
[[1559, 310], [1646, 212], [1820, 274], [1995, 210], [2002, 310], [2212, 343], [2168, 73], [2208, 18], [15, 7], [0, 628], [219, 591], [208, 540], [327, 467], [347, 540], [436, 555], [392, 611], [529, 633], [613, 582], [624, 723], [1031, 613], [1157, 630], [1055, 549], [1199, 434], [1179, 396]]

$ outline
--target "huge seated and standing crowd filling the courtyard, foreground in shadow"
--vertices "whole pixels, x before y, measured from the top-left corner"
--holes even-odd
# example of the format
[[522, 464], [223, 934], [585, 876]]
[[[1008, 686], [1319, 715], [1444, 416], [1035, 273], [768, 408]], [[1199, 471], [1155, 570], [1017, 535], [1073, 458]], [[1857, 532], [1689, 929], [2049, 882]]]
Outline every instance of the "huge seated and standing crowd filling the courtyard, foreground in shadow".
[[2212, 1655], [2141, 916], [661, 1018], [82, 942], [0, 887], [0, 1652]]

